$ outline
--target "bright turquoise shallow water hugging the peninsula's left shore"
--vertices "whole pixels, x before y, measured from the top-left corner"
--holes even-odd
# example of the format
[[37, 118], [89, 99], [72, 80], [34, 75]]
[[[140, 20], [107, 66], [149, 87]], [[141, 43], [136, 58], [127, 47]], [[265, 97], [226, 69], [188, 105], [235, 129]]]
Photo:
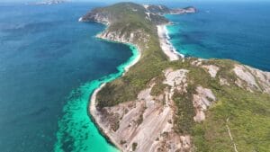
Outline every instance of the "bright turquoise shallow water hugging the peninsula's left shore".
[[132, 56], [117, 67], [116, 73], [85, 83], [69, 95], [67, 104], [63, 108], [64, 115], [58, 121], [57, 142], [54, 151], [118, 151], [104, 139], [94, 125], [89, 116], [88, 106], [89, 98], [95, 89], [122, 76], [125, 68], [132, 65], [135, 59], [139, 57], [139, 51], [135, 46], [131, 44], [123, 45], [130, 47]]

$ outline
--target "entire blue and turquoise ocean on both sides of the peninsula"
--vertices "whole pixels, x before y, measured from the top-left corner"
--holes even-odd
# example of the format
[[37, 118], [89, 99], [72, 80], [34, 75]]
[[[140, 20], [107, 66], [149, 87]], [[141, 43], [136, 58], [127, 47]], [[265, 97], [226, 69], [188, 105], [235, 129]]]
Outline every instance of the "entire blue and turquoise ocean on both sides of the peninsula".
[[[168, 3], [186, 56], [230, 58], [270, 71], [270, 3]], [[77, 22], [97, 3], [0, 4], [0, 151], [115, 151], [89, 119], [89, 95], [121, 76], [132, 46], [97, 40], [105, 28]], [[129, 59], [130, 58], [130, 59]], [[125, 64], [123, 64], [125, 63]]]

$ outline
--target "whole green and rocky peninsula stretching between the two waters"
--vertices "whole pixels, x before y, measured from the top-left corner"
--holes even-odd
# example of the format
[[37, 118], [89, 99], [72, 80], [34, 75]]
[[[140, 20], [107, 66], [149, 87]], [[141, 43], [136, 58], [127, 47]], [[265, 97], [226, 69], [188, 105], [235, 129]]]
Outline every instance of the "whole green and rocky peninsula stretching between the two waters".
[[140, 54], [89, 104], [121, 151], [270, 149], [270, 73], [228, 59], [183, 58], [167, 40], [163, 14], [196, 11], [119, 3], [79, 19], [107, 25], [98, 38], [132, 44]]

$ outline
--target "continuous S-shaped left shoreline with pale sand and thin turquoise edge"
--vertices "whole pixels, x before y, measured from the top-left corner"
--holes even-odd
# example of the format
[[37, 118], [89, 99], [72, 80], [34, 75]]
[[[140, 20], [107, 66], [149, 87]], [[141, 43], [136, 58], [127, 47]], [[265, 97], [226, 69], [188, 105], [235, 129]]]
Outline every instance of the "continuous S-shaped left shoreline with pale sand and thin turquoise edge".
[[112, 137], [110, 136], [110, 134], [108, 134], [108, 131], [110, 130], [106, 130], [103, 127], [103, 124], [101, 123], [101, 120], [98, 119], [99, 114], [98, 111], [96, 110], [96, 94], [98, 94], [98, 92], [103, 88], [104, 85], [106, 85], [107, 83], [121, 77], [124, 76], [126, 72], [129, 71], [130, 67], [134, 66], [140, 58], [141, 55], [141, 51], [139, 49], [138, 46], [136, 46], [135, 44], [130, 44], [130, 43], [126, 43], [126, 42], [121, 42], [121, 41], [115, 41], [115, 40], [108, 40], [108, 39], [104, 39], [102, 37], [99, 36], [99, 34], [97, 34], [95, 36], [97, 39], [100, 40], [106, 40], [109, 42], [116, 42], [116, 43], [122, 43], [124, 45], [128, 45], [130, 46], [130, 49], [132, 51], [132, 56], [124, 63], [122, 63], [120, 66], [116, 67], [118, 69], [118, 73], [115, 74], [111, 74], [109, 76], [105, 76], [102, 78], [102, 80], [100, 81], [100, 85], [94, 89], [94, 91], [92, 92], [92, 94], [90, 95], [90, 100], [88, 103], [88, 114], [90, 119], [94, 122], [94, 125], [96, 126], [96, 128], [100, 131], [100, 133], [103, 135], [103, 137], [109, 142], [111, 143], [113, 146], [115, 146], [118, 149], [121, 149], [121, 147], [117, 144], [117, 142], [115, 142]]

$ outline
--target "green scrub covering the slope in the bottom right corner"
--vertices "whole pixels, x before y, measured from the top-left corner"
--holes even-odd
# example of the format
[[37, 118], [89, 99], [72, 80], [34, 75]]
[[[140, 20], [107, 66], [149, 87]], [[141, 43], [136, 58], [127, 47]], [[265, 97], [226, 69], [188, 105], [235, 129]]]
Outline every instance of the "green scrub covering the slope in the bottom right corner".
[[[270, 149], [270, 97], [252, 94], [238, 87], [225, 87], [219, 101], [207, 112], [207, 119], [193, 131], [197, 151], [231, 151], [229, 128], [238, 151]], [[206, 150], [202, 150], [206, 149]]]

